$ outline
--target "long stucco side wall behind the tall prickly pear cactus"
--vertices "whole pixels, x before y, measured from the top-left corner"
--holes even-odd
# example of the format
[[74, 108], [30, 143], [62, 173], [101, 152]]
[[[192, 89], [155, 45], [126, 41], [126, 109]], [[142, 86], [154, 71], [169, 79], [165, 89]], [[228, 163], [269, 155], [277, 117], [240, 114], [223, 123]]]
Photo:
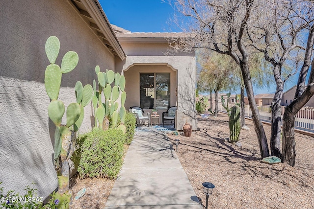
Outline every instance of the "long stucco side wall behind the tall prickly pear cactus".
[[[114, 56], [66, 0], [0, 1], [0, 19], [1, 186], [23, 194], [34, 182], [38, 196], [46, 197], [57, 181], [52, 164], [54, 125], [43, 83], [49, 64], [45, 42], [51, 35], [59, 38], [57, 64], [66, 51], [78, 52], [78, 67], [62, 76], [59, 99], [66, 107], [76, 101], [76, 81], [92, 84], [96, 65], [114, 70]], [[80, 131], [91, 128], [91, 109], [85, 108]]]

